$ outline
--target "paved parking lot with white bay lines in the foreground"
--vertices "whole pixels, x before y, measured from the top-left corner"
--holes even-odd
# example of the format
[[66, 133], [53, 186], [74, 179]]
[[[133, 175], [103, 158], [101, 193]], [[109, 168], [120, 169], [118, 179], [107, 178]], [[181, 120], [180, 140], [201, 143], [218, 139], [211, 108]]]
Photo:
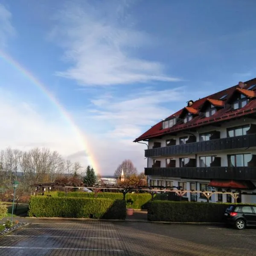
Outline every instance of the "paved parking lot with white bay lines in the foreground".
[[256, 256], [256, 229], [38, 220], [0, 237], [0, 256]]

